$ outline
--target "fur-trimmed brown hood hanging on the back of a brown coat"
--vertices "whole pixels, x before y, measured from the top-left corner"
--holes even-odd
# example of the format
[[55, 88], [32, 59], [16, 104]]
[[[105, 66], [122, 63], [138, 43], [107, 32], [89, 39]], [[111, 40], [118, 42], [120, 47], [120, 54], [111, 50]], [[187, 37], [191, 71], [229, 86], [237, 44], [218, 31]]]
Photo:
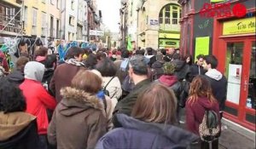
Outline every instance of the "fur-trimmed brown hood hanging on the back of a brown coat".
[[91, 95], [81, 89], [63, 88], [61, 89], [61, 96], [63, 100], [60, 102], [59, 111], [66, 117], [84, 112], [90, 108], [104, 110], [101, 100], [96, 95]]

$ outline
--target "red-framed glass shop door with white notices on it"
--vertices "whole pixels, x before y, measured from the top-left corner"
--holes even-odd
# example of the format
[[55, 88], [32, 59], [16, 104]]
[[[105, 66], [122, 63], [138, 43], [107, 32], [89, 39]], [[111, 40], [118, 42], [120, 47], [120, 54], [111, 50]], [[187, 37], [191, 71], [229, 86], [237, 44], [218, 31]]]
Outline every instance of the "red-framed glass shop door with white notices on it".
[[236, 123], [255, 130], [255, 41], [236, 39], [225, 42], [226, 115]]

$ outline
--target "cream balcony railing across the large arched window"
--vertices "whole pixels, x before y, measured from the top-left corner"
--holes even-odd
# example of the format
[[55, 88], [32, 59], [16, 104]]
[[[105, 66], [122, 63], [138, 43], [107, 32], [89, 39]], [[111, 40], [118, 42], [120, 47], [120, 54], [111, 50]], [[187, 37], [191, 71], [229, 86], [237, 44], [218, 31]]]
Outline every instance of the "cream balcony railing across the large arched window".
[[[164, 24], [164, 19], [166, 24]], [[179, 19], [177, 18], [163, 18], [160, 17], [159, 22], [160, 22], [160, 30], [163, 31], [180, 31], [180, 25], [178, 24]]]

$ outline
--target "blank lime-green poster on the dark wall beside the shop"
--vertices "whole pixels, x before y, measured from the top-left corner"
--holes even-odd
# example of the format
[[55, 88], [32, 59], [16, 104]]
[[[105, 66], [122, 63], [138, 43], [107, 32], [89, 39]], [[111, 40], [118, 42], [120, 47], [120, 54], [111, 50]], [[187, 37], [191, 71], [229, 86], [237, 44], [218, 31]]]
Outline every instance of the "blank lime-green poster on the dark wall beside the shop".
[[195, 59], [199, 54], [209, 54], [210, 37], [195, 37]]

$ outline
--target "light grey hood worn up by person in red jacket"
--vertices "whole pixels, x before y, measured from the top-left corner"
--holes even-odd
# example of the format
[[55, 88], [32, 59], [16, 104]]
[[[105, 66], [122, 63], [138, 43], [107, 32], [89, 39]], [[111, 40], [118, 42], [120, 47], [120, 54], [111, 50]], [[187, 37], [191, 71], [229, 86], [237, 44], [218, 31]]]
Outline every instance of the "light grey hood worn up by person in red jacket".
[[44, 65], [37, 61], [29, 61], [24, 68], [24, 74], [27, 79], [41, 82], [44, 76]]

